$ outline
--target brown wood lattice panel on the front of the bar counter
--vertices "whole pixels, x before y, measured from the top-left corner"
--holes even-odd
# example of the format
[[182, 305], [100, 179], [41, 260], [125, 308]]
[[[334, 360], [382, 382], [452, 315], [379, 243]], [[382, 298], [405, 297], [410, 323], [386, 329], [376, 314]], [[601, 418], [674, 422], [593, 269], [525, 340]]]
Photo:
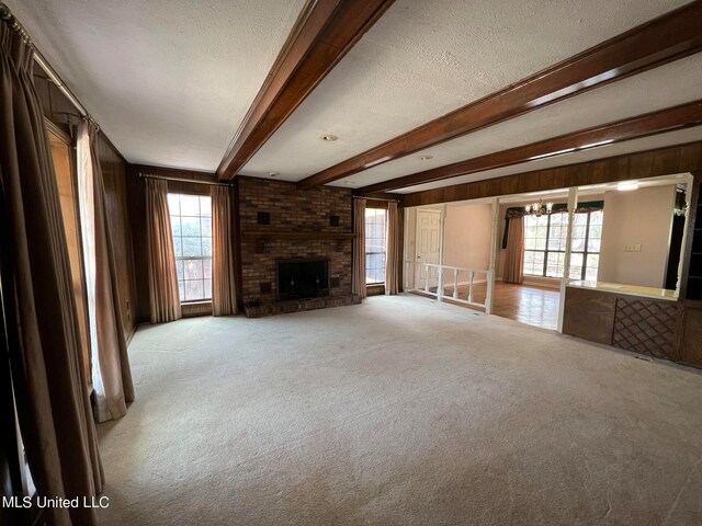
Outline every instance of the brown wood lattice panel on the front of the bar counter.
[[657, 358], [675, 359], [679, 309], [675, 302], [616, 298], [612, 345]]

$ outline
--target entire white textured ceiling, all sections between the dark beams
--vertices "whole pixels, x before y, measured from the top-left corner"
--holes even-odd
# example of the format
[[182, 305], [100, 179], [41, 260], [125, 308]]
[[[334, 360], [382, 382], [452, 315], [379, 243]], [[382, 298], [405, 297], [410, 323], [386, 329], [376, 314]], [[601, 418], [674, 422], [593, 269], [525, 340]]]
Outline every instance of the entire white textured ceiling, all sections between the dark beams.
[[[305, 3], [5, 1], [128, 161], [204, 171], [219, 164]], [[299, 181], [688, 1], [396, 0], [242, 173]], [[700, 85], [702, 54], [333, 184], [361, 187], [690, 102]], [[320, 140], [327, 134], [339, 140]], [[702, 127], [398, 192], [692, 140]]]

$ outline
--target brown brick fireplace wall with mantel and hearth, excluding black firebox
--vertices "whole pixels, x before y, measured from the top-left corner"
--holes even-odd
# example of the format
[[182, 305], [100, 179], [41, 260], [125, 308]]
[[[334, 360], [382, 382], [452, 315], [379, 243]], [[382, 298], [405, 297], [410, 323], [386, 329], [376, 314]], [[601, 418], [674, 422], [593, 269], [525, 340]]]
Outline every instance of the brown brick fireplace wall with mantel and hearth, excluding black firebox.
[[[248, 317], [359, 302], [351, 294], [351, 190], [298, 191], [294, 183], [241, 176], [241, 288]], [[279, 299], [279, 264], [326, 261], [325, 295]], [[327, 294], [328, 293], [328, 294]]]

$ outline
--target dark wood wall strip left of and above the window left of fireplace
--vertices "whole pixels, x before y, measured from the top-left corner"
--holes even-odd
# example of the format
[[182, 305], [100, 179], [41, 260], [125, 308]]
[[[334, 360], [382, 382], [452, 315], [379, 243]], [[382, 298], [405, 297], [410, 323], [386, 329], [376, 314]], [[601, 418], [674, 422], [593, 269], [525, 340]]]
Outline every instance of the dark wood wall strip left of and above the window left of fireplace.
[[[134, 278], [138, 304], [136, 306], [136, 321], [148, 322], [149, 316], [149, 274], [148, 274], [148, 245], [146, 236], [146, 183], [139, 179], [139, 173], [161, 175], [167, 178], [188, 179], [192, 181], [216, 181], [214, 173], [194, 172], [189, 170], [176, 170], [169, 168], [147, 167], [144, 164], [128, 164], [126, 187], [129, 207], [129, 220], [132, 222], [132, 239], [134, 242]], [[168, 182], [171, 192], [184, 194], [210, 195], [211, 186], [182, 182]]]

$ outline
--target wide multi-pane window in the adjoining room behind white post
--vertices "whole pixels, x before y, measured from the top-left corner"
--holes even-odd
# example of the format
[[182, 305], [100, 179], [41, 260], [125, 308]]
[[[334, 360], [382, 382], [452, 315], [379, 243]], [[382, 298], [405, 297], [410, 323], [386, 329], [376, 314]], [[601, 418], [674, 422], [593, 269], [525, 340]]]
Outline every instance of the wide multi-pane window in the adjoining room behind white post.
[[[597, 279], [602, 240], [602, 210], [575, 214], [570, 278]], [[524, 274], [562, 277], [568, 215], [524, 216]]]

